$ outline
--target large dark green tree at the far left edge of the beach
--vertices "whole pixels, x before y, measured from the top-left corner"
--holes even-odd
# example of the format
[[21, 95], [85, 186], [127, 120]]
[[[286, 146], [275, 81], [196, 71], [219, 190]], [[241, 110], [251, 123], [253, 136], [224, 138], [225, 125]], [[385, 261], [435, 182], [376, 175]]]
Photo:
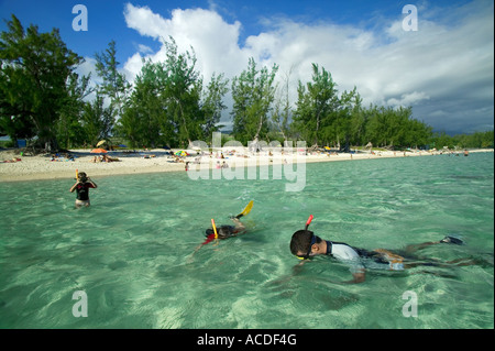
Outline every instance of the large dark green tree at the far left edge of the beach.
[[[66, 101], [67, 83], [82, 57], [67, 48], [57, 29], [40, 33], [36, 25], [24, 30], [12, 14], [8, 31], [0, 34], [1, 125], [16, 120], [25, 132], [34, 130], [38, 143], [58, 149], [57, 121]], [[14, 128], [13, 138], [19, 135]]]

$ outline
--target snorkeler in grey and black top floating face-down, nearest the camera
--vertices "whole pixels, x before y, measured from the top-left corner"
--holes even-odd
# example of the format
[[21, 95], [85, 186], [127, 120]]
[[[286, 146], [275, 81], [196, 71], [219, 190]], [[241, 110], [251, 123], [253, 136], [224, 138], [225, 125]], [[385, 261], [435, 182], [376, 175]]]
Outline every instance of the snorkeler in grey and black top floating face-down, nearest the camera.
[[440, 243], [462, 245], [463, 241], [453, 237], [446, 237], [440, 241], [408, 245], [403, 252], [394, 253], [385, 249], [364, 250], [343, 242], [322, 240], [310, 230], [298, 230], [290, 240], [290, 252], [299, 260], [310, 260], [316, 255], [327, 255], [350, 265], [352, 281], [345, 283], [362, 283], [365, 281], [366, 268], [403, 271], [419, 265], [441, 266], [448, 264], [472, 265], [472, 261], [457, 260], [441, 263], [433, 260], [425, 261], [414, 256], [414, 253], [427, 246]]

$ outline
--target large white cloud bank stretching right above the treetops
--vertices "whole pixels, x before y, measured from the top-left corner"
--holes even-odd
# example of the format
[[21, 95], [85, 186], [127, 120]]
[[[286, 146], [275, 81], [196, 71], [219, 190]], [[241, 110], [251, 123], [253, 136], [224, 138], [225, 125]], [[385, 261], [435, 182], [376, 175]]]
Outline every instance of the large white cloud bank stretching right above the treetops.
[[[332, 74], [340, 91], [356, 86], [365, 103], [413, 106], [415, 118], [448, 132], [493, 129], [491, 1], [443, 11], [422, 3], [418, 31], [410, 32], [403, 30], [400, 13], [380, 19], [372, 29], [276, 18], [265, 20], [265, 31], [244, 43], [242, 23], [228, 23], [215, 8], [175, 9], [165, 18], [128, 3], [124, 18], [143, 36], [173, 36], [182, 52], [194, 47], [205, 80], [213, 72], [232, 78], [254, 57], [260, 65], [276, 63], [282, 73], [292, 72], [295, 100], [297, 80], [310, 80], [311, 63], [317, 63]], [[124, 65], [130, 79], [143, 57], [163, 61], [165, 47], [130, 57]]]

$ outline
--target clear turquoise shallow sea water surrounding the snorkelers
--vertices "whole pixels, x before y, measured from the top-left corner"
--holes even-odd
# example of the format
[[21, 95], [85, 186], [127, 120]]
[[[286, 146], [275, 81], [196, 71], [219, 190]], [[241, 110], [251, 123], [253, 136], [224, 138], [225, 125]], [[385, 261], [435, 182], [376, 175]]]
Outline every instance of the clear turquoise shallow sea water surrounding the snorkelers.
[[[82, 209], [68, 179], [0, 184], [1, 328], [494, 327], [493, 153], [307, 164], [298, 193], [186, 173], [94, 180]], [[249, 233], [193, 254], [211, 218], [229, 223], [249, 200]], [[349, 267], [329, 257], [295, 268], [289, 240], [311, 213], [323, 239], [399, 250], [453, 234], [466, 244], [421, 255], [481, 263], [343, 284]], [[79, 290], [87, 317], [73, 314]]]

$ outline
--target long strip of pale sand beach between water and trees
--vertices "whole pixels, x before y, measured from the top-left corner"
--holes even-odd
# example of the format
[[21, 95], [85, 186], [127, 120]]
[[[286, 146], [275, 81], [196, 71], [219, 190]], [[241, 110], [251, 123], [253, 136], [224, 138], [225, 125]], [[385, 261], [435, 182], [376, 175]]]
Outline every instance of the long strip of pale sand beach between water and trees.
[[[176, 150], [172, 151], [173, 153]], [[492, 152], [493, 150], [470, 150], [470, 153]], [[179, 158], [180, 162], [174, 162], [173, 155], [166, 155], [164, 150], [146, 150], [133, 153], [113, 153], [111, 157], [119, 158], [118, 162], [97, 162], [95, 154], [90, 150], [72, 150], [70, 155], [74, 161], [64, 155], [52, 157], [52, 155], [25, 156], [21, 155], [19, 150], [0, 150], [0, 182], [26, 182], [45, 179], [75, 179], [76, 169], [86, 172], [88, 176], [97, 179], [98, 177], [114, 175], [135, 175], [150, 173], [169, 173], [185, 172], [186, 162], [189, 162], [189, 172], [199, 169], [197, 162], [202, 164], [201, 168], [218, 168], [223, 163], [229, 167], [235, 166], [264, 166], [276, 164], [290, 164], [296, 162], [316, 163], [316, 162], [340, 162], [359, 160], [380, 160], [389, 157], [414, 157], [414, 156], [433, 156], [446, 154], [446, 152], [431, 151], [375, 151], [375, 152], [353, 152], [353, 153], [327, 153], [312, 152], [307, 153], [301, 150], [294, 150], [289, 153], [285, 150], [262, 151], [260, 153], [249, 152], [246, 147], [222, 147], [212, 154], [198, 154], [196, 151], [188, 151], [190, 155]], [[454, 155], [463, 155], [463, 152], [454, 152]], [[222, 158], [223, 155], [223, 158]], [[98, 156], [97, 156], [98, 157]]]

